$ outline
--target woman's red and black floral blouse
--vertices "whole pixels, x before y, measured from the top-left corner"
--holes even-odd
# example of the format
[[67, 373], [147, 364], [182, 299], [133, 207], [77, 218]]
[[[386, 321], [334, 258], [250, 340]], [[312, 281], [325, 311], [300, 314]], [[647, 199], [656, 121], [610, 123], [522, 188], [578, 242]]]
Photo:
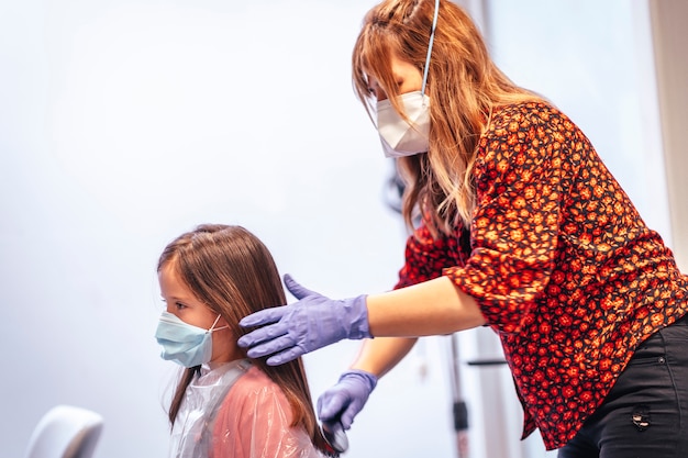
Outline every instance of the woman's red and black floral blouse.
[[635, 347], [688, 311], [688, 278], [582, 132], [545, 103], [504, 107], [479, 141], [470, 231], [409, 237], [396, 288], [441, 275], [499, 335], [523, 437], [572, 439]]

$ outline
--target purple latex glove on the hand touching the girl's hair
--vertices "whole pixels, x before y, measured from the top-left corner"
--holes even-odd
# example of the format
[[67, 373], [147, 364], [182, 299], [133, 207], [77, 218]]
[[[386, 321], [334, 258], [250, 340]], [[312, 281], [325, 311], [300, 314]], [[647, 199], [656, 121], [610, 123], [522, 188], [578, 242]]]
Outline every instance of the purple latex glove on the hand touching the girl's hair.
[[244, 327], [266, 325], [237, 342], [240, 347], [248, 347], [251, 358], [271, 355], [267, 364], [277, 366], [344, 338], [371, 337], [365, 295], [329, 299], [288, 275], [285, 284], [298, 302], [260, 310], [238, 322]]

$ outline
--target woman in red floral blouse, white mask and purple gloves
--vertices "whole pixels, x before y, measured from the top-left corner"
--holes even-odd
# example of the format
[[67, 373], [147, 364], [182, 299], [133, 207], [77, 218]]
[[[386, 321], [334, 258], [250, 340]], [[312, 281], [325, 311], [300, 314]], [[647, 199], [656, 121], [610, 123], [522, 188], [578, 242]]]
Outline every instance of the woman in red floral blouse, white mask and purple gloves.
[[242, 321], [263, 325], [238, 342], [248, 356], [365, 338], [319, 400], [346, 429], [417, 337], [487, 325], [524, 437], [562, 458], [688, 456], [688, 279], [575, 122], [497, 68], [447, 0], [374, 7], [353, 80], [406, 180], [399, 281], [333, 300], [286, 278], [299, 301]]

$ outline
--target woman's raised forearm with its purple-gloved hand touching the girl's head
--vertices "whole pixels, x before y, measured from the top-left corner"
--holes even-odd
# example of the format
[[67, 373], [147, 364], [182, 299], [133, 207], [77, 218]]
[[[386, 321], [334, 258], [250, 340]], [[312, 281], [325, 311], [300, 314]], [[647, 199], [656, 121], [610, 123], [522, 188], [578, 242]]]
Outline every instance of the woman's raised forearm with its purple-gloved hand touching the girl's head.
[[255, 312], [240, 322], [245, 327], [267, 324], [242, 336], [238, 345], [249, 347], [252, 358], [271, 355], [267, 364], [273, 366], [343, 338], [451, 334], [486, 323], [476, 301], [445, 277], [344, 300], [307, 290], [291, 278], [285, 282], [298, 302]]

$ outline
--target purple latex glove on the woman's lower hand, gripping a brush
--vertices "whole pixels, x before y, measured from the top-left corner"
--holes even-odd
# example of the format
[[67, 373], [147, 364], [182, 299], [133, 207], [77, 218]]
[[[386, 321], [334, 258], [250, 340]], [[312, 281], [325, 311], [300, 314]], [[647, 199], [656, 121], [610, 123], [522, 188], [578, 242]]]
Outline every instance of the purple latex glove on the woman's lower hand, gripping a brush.
[[376, 384], [377, 377], [373, 373], [347, 370], [334, 387], [318, 398], [318, 417], [323, 423], [341, 423], [344, 429], [351, 428]]

